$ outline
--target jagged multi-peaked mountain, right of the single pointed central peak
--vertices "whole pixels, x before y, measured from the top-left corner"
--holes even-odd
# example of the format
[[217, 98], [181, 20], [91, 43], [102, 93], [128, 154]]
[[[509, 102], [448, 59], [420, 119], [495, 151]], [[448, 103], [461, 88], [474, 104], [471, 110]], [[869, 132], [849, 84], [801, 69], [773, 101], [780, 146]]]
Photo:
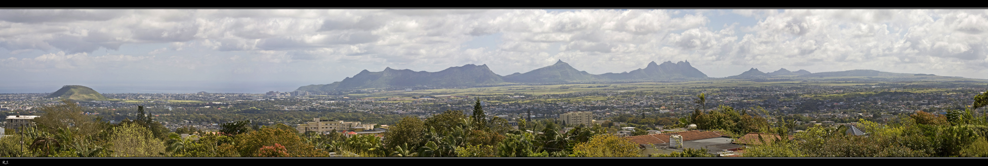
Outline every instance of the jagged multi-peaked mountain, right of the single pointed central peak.
[[603, 78], [612, 80], [663, 80], [663, 79], [697, 79], [707, 78], [706, 74], [700, 72], [689, 61], [672, 61], [657, 64], [655, 61], [649, 62], [645, 68], [638, 68], [630, 72], [604, 73]]

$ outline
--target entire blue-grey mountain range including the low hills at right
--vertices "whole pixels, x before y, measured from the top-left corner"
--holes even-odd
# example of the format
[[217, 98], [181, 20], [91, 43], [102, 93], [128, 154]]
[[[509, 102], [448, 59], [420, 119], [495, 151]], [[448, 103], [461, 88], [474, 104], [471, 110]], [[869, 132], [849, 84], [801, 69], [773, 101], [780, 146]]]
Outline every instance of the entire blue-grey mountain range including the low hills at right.
[[[741, 74], [725, 77], [724, 79], [763, 79], [771, 77], [806, 78], [806, 77], [843, 77], [843, 76], [921, 76], [920, 74], [905, 74], [881, 72], [877, 70], [848, 70], [811, 73], [806, 70], [789, 71], [781, 68], [773, 72], [762, 72], [751, 68]], [[328, 92], [347, 89], [368, 88], [409, 88], [409, 87], [475, 87], [505, 84], [539, 84], [539, 83], [591, 83], [608, 81], [683, 81], [700, 80], [709, 77], [689, 61], [656, 63], [649, 62], [645, 68], [621, 72], [590, 74], [581, 71], [562, 60], [555, 64], [535, 70], [501, 76], [495, 74], [486, 64], [450, 67], [438, 72], [412, 71], [410, 69], [384, 68], [383, 71], [371, 72], [363, 70], [353, 77], [331, 84], [307, 85], [296, 91]]]

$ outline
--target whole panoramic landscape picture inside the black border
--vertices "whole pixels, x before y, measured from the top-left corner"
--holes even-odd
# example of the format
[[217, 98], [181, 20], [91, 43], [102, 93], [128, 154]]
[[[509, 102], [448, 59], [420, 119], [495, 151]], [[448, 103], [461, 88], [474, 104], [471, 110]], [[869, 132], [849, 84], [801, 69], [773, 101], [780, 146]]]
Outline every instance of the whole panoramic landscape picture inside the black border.
[[988, 157], [988, 10], [0, 9], [0, 160]]

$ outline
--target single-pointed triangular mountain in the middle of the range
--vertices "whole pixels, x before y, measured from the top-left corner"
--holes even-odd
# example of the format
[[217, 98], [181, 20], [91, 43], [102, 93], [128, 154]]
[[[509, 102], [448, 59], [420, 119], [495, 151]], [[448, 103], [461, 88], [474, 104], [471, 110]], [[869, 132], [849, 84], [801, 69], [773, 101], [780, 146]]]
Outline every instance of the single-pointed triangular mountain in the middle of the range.
[[526, 73], [515, 73], [504, 77], [505, 81], [517, 83], [565, 83], [602, 80], [598, 75], [580, 71], [562, 60], [555, 64]]

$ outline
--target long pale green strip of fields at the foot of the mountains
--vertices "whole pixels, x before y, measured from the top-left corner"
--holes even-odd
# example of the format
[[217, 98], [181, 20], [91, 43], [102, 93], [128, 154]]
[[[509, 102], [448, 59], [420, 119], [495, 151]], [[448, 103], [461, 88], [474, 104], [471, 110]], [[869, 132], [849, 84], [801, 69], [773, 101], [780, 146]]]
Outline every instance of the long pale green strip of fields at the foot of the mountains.
[[[374, 93], [364, 93], [364, 94], [350, 94], [347, 96], [356, 98], [409, 98], [409, 97], [419, 97], [419, 96], [436, 96], [436, 95], [453, 95], [453, 96], [470, 96], [470, 97], [497, 97], [497, 96], [516, 96], [516, 95], [548, 95], [548, 94], [570, 94], [570, 93], [581, 93], [581, 92], [689, 92], [689, 93], [701, 93], [705, 92], [710, 94], [710, 92], [717, 91], [721, 88], [737, 88], [737, 87], [764, 87], [764, 86], [860, 86], [860, 85], [874, 85], [880, 83], [891, 83], [899, 84], [902, 86], [909, 85], [926, 85], [926, 86], [936, 86], [945, 84], [973, 84], [973, 85], [985, 85], [988, 82], [979, 79], [967, 79], [967, 78], [944, 78], [944, 77], [931, 77], [931, 79], [923, 81], [908, 81], [908, 82], [881, 82], [881, 81], [870, 81], [870, 78], [885, 78], [885, 77], [827, 77], [827, 78], [798, 78], [793, 79], [770, 79], [770, 80], [743, 80], [743, 79], [718, 79], [718, 80], [700, 80], [700, 81], [685, 81], [685, 82], [634, 82], [634, 83], [608, 83], [608, 84], [560, 84], [560, 85], [511, 85], [511, 86], [500, 86], [500, 87], [477, 87], [477, 88], [454, 88], [454, 89], [430, 89], [430, 90], [415, 90], [411, 92], [406, 91], [380, 91]], [[892, 78], [892, 77], [889, 77]], [[860, 81], [844, 81], [844, 80], [858, 79]], [[976, 82], [949, 82], [949, 81], [976, 81]], [[938, 82], [947, 81], [947, 82]], [[901, 89], [899, 91], [912, 92], [912, 93], [936, 93], [945, 92], [949, 89], [944, 88], [913, 88], [913, 89]], [[866, 96], [873, 95], [876, 92], [859, 92], [859, 93], [841, 93], [841, 94], [825, 94], [825, 95], [803, 95], [803, 97], [811, 98], [846, 98], [846, 97], [856, 97], [856, 96]], [[561, 101], [600, 101], [600, 100], [610, 100], [610, 99], [620, 99], [621, 96], [587, 96], [579, 98], [567, 98], [567, 99], [539, 99], [535, 102], [561, 102]], [[490, 101], [490, 102], [534, 102], [531, 100], [515, 100], [515, 99], [505, 99], [500, 101]], [[411, 101], [392, 101], [392, 102], [411, 102]]]

